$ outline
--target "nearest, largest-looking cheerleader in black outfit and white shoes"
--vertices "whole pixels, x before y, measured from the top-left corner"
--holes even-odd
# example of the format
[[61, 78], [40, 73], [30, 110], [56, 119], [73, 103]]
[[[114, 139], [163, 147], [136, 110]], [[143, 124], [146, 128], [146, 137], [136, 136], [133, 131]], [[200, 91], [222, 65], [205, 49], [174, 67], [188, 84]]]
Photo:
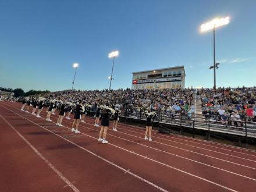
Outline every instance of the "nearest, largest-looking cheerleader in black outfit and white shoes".
[[[111, 117], [111, 110], [108, 108], [108, 104], [106, 107], [102, 109], [102, 120], [101, 120], [101, 131], [99, 131], [99, 139], [98, 141], [102, 141], [102, 143], [108, 143], [106, 141], [106, 131], [108, 131], [109, 127], [109, 118]], [[103, 139], [102, 139], [103, 136]]]

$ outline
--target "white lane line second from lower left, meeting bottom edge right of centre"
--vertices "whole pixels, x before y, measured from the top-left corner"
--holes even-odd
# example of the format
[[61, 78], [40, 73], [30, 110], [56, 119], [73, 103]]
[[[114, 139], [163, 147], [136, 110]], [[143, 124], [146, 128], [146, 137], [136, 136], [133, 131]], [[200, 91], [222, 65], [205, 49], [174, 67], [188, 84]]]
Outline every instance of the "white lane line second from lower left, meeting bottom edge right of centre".
[[[0, 106], [2, 106], [2, 105], [0, 105]], [[95, 157], [97, 157], [97, 158], [99, 158], [99, 159], [102, 159], [103, 161], [105, 161], [105, 162], [107, 162], [107, 163], [110, 163], [111, 165], [115, 166], [116, 168], [118, 168], [118, 169], [123, 170], [123, 171], [126, 172], [126, 169], [120, 167], [119, 165], [116, 165], [115, 163], [108, 161], [107, 159], [105, 159], [105, 158], [103, 158], [103, 157], [101, 157], [101, 156], [95, 154], [94, 152], [92, 152], [92, 151], [90, 151], [90, 150], [87, 150], [86, 148], [81, 147], [80, 145], [74, 143], [73, 141], [67, 140], [66, 138], [64, 138], [64, 137], [62, 137], [62, 136], [60, 136], [60, 135], [54, 133], [53, 131], [48, 130], [47, 128], [45, 128], [45, 127], [43, 127], [43, 126], [41, 126], [41, 125], [38, 125], [37, 123], [33, 122], [32, 120], [29, 120], [29, 119], [25, 118], [24, 116], [22, 116], [22, 115], [20, 115], [19, 113], [16, 113], [16, 112], [14, 112], [14, 111], [12, 111], [12, 110], [6, 108], [5, 106], [2, 106], [2, 107], [5, 108], [5, 109], [7, 109], [7, 110], [10, 111], [10, 112], [15, 113], [16, 115], [18, 115], [18, 116], [20, 116], [20, 117], [22, 117], [22, 118], [28, 120], [29, 122], [33, 123], [34, 125], [37, 125], [37, 126], [41, 127], [42, 129], [47, 130], [47, 131], [51, 132], [52, 134], [55, 134], [55, 136], [61, 137], [61, 138], [63, 138], [63, 140], [66, 140], [66, 141], [68, 141], [69, 143], [72, 143], [73, 145], [76, 145], [77, 147], [81, 148], [81, 150], [87, 151], [87, 152], [90, 153], [91, 155], [94, 155]], [[63, 127], [65, 127], [65, 126], [63, 126]], [[68, 127], [66, 127], [66, 128], [69, 129]], [[84, 135], [86, 135], [86, 134], [84, 134]], [[93, 138], [95, 138], [95, 137], [93, 137]], [[98, 140], [98, 138], [96, 138], [96, 139]], [[157, 188], [158, 190], [168, 192], [167, 190], [162, 189], [162, 187], [159, 187], [159, 186], [157, 186], [156, 184], [151, 183], [150, 181], [148, 181], [148, 180], [146, 180], [146, 179], [144, 179], [144, 178], [142, 178], [142, 177], [140, 177], [140, 176], [138, 176], [138, 175], [136, 175], [136, 174], [134, 174], [134, 173], [132, 173], [132, 172], [130, 172], [130, 171], [128, 171], [127, 173], [129, 173], [131, 176], [136, 177], [137, 179], [142, 180], [142, 181], [145, 182], [145, 183], [150, 184], [151, 186]]]

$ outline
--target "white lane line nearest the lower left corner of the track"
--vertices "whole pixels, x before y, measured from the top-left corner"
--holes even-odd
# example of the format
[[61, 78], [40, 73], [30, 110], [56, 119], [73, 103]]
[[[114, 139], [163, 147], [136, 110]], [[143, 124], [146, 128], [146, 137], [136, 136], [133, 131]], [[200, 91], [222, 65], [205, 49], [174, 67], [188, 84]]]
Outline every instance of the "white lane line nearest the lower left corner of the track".
[[22, 136], [22, 134], [20, 134], [19, 131], [17, 131], [15, 129], [15, 127], [13, 127], [12, 125], [10, 125], [10, 123], [5, 119], [3, 118], [3, 116], [0, 114], [0, 117], [29, 145], [29, 147], [31, 147], [34, 152], [42, 159], [44, 160], [45, 163], [47, 163], [47, 165], [52, 169], [54, 170], [54, 172], [63, 180], [63, 182], [65, 182], [67, 184], [67, 186], [69, 186], [73, 191], [76, 191], [76, 192], [79, 192], [80, 190], [77, 189], [73, 183], [71, 183], [65, 176], [62, 175], [61, 172], [59, 172], [58, 169], [55, 168], [54, 165], [52, 165], [51, 162], [48, 161], [47, 158], [44, 157], [44, 155], [42, 155], [25, 137]]

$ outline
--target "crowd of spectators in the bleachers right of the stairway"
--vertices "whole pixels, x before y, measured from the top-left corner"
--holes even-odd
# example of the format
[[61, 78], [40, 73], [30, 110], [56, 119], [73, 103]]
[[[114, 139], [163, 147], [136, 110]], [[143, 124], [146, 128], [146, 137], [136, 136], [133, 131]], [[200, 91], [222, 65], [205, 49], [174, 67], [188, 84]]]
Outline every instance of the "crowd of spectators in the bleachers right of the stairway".
[[256, 122], [256, 88], [218, 88], [197, 91], [202, 114], [212, 122], [241, 126], [245, 120]]

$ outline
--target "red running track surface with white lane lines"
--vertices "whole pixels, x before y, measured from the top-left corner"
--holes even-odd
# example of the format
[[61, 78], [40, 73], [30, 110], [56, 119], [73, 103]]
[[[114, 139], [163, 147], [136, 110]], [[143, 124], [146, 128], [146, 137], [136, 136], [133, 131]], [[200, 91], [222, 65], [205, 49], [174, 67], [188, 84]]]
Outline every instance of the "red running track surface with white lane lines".
[[255, 191], [255, 151], [122, 123], [101, 144], [93, 118], [74, 134], [20, 107], [0, 102], [0, 191]]

